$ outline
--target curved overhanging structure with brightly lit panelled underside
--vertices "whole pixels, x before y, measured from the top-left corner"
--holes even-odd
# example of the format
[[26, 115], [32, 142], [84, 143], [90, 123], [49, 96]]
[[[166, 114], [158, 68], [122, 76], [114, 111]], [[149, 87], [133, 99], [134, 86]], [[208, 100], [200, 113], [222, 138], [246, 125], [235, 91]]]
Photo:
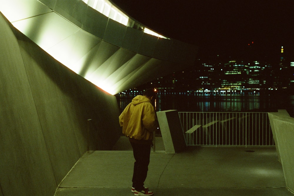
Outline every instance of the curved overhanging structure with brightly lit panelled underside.
[[[95, 19], [83, 19], [87, 16], [85, 11], [88, 7], [81, 0], [72, 1], [74, 5], [62, 0], [56, 0], [55, 4], [45, 0], [42, 0], [43, 3], [38, 0], [6, 1], [0, 0], [0, 11], [19, 31], [56, 60], [110, 94], [117, 94], [183, 69], [195, 60], [196, 48], [192, 45], [171, 39], [162, 42], [161, 39], [165, 37], [160, 37], [159, 34], [154, 39], [154, 35], [149, 35], [151, 37], [148, 38], [139, 30], [127, 31], [133, 26], [124, 26], [126, 22], [122, 25], [112, 21], [111, 18], [116, 20], [120, 18], [117, 14], [122, 13], [114, 7], [110, 8], [112, 12], [108, 20], [102, 18], [103, 21], [108, 21], [107, 25], [99, 26], [103, 23]], [[51, 4], [54, 7], [50, 7]], [[92, 6], [95, 5], [98, 5], [98, 1]], [[83, 7], [76, 9], [76, 6]], [[106, 17], [97, 14], [100, 14], [97, 18]], [[133, 22], [131, 20], [128, 24], [133, 25]], [[83, 29], [109, 34], [97, 37], [99, 34], [94, 36]], [[150, 32], [152, 33], [151, 30]], [[130, 39], [131, 37], [136, 39]], [[130, 43], [126, 44], [126, 41]]]

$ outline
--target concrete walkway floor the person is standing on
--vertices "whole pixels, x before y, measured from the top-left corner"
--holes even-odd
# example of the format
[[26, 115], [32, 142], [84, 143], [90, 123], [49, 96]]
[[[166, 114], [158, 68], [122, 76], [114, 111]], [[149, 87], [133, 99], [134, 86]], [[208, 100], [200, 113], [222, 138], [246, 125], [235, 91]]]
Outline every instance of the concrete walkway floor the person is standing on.
[[[189, 147], [166, 154], [160, 138], [156, 147], [145, 181], [154, 195], [293, 195], [274, 147]], [[121, 138], [114, 148], [85, 153], [56, 195], [133, 195], [131, 145]]]

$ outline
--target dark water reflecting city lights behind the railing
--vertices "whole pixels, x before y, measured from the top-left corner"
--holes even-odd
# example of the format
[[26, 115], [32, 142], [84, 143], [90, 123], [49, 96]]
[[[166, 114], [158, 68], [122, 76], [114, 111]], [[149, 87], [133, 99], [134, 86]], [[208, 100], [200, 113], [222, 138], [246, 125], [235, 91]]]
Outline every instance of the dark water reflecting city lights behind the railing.
[[[121, 111], [136, 94], [116, 95]], [[176, 109], [178, 111], [262, 111], [276, 112], [287, 109], [294, 116], [294, 95], [283, 94], [158, 94], [156, 111]]]

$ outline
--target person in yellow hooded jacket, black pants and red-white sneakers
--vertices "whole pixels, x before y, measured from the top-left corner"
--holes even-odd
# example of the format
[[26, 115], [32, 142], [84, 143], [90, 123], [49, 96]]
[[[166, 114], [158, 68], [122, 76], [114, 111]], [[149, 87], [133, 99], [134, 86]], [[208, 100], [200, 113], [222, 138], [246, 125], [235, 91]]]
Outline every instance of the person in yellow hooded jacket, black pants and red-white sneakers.
[[137, 95], [127, 105], [119, 116], [123, 134], [129, 138], [135, 158], [133, 170], [132, 192], [136, 196], [153, 195], [153, 192], [144, 187], [150, 162], [150, 151], [153, 132], [157, 130], [158, 121], [152, 102], [156, 99], [153, 89], [144, 91], [143, 96]]

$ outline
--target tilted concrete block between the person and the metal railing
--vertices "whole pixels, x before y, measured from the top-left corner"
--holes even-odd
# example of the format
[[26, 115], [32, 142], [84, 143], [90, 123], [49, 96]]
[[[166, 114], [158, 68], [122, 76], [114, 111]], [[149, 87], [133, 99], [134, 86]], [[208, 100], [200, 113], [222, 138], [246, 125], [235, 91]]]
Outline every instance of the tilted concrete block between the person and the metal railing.
[[158, 111], [157, 118], [166, 153], [178, 153], [186, 148], [177, 110]]

